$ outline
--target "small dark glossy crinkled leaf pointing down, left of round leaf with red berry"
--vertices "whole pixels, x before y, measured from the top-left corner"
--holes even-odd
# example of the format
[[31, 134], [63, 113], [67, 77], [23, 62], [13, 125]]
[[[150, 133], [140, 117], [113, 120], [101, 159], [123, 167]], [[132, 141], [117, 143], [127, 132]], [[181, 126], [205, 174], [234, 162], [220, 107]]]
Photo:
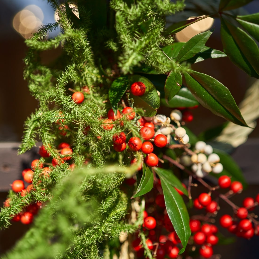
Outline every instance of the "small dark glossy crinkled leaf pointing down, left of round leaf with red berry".
[[117, 114], [118, 102], [126, 92], [128, 86], [129, 80], [127, 76], [120, 76], [115, 79], [111, 84], [111, 87], [109, 89], [109, 100], [115, 114]]

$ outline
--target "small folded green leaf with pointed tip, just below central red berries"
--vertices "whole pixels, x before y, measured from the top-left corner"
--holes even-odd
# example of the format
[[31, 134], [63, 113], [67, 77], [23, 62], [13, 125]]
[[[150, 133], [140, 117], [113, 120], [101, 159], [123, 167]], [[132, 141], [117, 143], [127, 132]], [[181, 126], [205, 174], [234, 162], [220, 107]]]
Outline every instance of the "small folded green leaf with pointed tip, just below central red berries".
[[146, 165], [143, 163], [143, 175], [141, 177], [141, 180], [135, 195], [133, 195], [131, 198], [139, 197], [151, 191], [151, 189], [153, 188], [153, 183], [154, 183], [153, 173], [149, 169], [149, 167], [146, 167]]

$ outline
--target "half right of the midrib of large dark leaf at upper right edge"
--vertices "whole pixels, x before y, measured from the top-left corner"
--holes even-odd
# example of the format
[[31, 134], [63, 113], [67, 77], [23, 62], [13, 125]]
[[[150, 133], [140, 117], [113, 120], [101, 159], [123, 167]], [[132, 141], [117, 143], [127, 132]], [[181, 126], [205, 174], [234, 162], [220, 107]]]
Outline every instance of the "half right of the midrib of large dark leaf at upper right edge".
[[256, 73], [259, 74], [259, 49], [257, 44], [239, 27], [232, 25], [227, 20], [225, 20], [225, 23], [241, 52], [243, 52], [244, 56], [247, 58]]

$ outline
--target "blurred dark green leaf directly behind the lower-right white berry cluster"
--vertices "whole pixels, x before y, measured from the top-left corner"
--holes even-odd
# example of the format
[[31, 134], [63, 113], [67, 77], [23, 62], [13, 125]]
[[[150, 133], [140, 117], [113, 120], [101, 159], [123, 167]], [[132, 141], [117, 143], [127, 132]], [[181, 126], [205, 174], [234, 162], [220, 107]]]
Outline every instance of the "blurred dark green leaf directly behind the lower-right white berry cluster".
[[232, 176], [231, 181], [239, 181], [243, 184], [244, 188], [247, 188], [247, 183], [240, 169], [239, 165], [235, 162], [235, 160], [226, 152], [213, 148], [213, 153], [219, 155], [220, 163], [223, 165], [224, 170], [220, 174], [212, 174], [213, 176], [221, 176], [221, 175], [229, 175]]

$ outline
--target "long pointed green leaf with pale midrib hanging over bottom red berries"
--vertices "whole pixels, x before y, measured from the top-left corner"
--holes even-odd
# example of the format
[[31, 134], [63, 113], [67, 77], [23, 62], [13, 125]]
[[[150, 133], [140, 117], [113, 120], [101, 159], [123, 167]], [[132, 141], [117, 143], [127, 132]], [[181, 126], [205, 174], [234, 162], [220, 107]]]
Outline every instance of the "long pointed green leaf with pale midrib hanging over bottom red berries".
[[168, 216], [183, 245], [183, 248], [179, 252], [181, 254], [184, 252], [191, 236], [189, 214], [182, 196], [163, 177], [160, 179]]

